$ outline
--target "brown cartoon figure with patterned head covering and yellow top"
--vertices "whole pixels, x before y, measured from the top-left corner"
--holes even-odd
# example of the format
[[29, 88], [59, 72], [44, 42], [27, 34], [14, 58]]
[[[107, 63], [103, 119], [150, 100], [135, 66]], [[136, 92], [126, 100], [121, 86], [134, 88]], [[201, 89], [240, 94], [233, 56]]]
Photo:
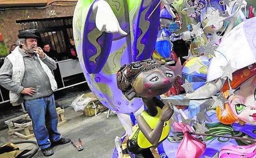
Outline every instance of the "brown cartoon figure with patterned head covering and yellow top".
[[168, 103], [164, 105], [157, 96], [166, 93], [174, 81], [173, 71], [159, 60], [124, 65], [117, 73], [118, 88], [127, 99], [141, 97], [147, 108], [138, 117], [127, 141], [128, 151], [136, 154], [136, 158], [154, 158], [150, 147], [157, 147], [168, 137], [173, 108]]

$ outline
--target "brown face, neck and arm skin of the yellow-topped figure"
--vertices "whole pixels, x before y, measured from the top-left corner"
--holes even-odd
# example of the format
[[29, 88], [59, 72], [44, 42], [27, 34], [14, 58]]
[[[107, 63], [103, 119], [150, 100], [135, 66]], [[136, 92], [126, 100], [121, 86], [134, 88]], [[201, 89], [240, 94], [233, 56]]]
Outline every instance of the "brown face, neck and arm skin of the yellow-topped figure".
[[[156, 79], [157, 78], [157, 79]], [[143, 99], [147, 107], [147, 113], [154, 117], [157, 115], [157, 105], [154, 97], [168, 92], [171, 89], [175, 76], [167, 67], [151, 71], [141, 72], [133, 82], [133, 89], [138, 96]], [[157, 126], [152, 129], [142, 116], [138, 117], [138, 126], [148, 141], [157, 146], [163, 131], [164, 122], [168, 121], [173, 114], [173, 109], [169, 104], [164, 105], [161, 110], [160, 119]]]

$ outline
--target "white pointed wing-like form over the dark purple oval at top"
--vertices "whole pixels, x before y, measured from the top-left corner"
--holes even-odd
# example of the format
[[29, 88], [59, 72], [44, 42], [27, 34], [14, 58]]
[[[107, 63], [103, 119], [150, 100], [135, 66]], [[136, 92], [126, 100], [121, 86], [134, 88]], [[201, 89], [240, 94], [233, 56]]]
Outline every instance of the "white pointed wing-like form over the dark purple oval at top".
[[122, 30], [119, 25], [118, 19], [113, 13], [108, 2], [99, 0], [93, 5], [93, 11], [96, 12], [95, 23], [96, 27], [101, 32], [116, 33], [118, 32], [122, 36], [126, 36], [127, 33]]

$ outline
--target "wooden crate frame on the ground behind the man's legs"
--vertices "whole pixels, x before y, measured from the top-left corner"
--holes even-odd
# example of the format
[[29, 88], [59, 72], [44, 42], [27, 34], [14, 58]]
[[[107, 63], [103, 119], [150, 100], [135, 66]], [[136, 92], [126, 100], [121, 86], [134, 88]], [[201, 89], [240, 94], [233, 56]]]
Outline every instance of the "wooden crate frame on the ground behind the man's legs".
[[[58, 114], [58, 126], [67, 123], [67, 118], [64, 116], [65, 110], [56, 108], [56, 111]], [[28, 114], [23, 114], [19, 117], [9, 119], [5, 121], [5, 124], [7, 124], [9, 128], [9, 131], [7, 132], [8, 135], [15, 134], [23, 139], [35, 137], [35, 134], [33, 133], [32, 120]]]

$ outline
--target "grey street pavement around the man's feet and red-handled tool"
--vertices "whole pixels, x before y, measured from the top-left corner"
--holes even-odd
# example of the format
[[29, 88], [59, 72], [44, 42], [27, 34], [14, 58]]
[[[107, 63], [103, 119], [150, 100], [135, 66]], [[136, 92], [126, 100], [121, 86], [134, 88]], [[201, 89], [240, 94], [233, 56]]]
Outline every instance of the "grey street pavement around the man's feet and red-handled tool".
[[[58, 130], [62, 137], [70, 138], [76, 144], [78, 144], [78, 138], [80, 137], [84, 150], [77, 151], [71, 143], [58, 145], [53, 147], [54, 155], [49, 158], [112, 158], [115, 148], [115, 136], [121, 136], [125, 130], [116, 115], [111, 115], [107, 119], [107, 112], [87, 117], [82, 112], [75, 112], [72, 107], [66, 107], [65, 117], [68, 122], [59, 126]], [[16, 135], [7, 135], [7, 131], [7, 128], [0, 131], [0, 144], [23, 140]], [[30, 140], [35, 141], [35, 137]], [[18, 147], [32, 149], [34, 146], [31, 144], [18, 144]], [[44, 155], [39, 150], [33, 158], [44, 158]]]

